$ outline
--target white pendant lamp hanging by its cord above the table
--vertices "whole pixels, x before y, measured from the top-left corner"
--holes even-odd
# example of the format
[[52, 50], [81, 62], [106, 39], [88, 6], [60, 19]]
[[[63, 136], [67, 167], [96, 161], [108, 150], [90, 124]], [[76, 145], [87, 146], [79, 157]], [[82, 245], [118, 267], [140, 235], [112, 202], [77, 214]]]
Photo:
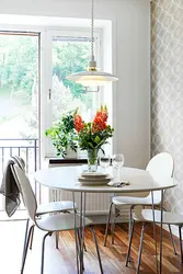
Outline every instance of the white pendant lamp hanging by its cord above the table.
[[[108, 72], [99, 71], [96, 69], [96, 61], [94, 59], [94, 0], [92, 0], [91, 7], [91, 61], [89, 62], [89, 69], [87, 71], [76, 72], [67, 77], [68, 80], [76, 83], [81, 83], [85, 87], [87, 91], [90, 91], [90, 87], [105, 85], [107, 82], [117, 81], [118, 78]], [[92, 90], [91, 91], [95, 91]]]

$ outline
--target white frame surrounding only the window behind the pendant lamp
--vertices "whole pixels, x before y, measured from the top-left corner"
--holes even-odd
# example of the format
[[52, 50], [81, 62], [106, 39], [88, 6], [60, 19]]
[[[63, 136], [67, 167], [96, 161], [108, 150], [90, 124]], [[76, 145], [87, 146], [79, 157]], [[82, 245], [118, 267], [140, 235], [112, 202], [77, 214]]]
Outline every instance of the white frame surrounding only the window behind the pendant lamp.
[[[98, 62], [98, 67], [102, 69], [102, 48], [101, 48], [101, 35], [102, 30], [95, 30], [94, 32], [94, 41], [95, 41], [95, 59]], [[52, 62], [52, 53], [53, 53], [53, 37], [54, 36], [65, 36], [65, 37], [91, 37], [91, 31], [90, 28], [59, 28], [59, 27], [47, 27], [45, 33], [45, 49], [44, 49], [44, 56], [45, 56], [45, 81], [44, 81], [44, 92], [42, 92], [42, 128], [41, 128], [41, 136], [42, 136], [42, 150], [43, 150], [43, 157], [44, 158], [52, 158], [56, 157], [55, 151], [53, 149], [52, 141], [45, 137], [45, 129], [49, 128], [53, 125], [53, 112], [52, 112], [52, 96], [49, 92], [52, 91], [53, 87], [53, 62]], [[103, 89], [99, 92], [99, 105], [102, 104], [103, 99]]]

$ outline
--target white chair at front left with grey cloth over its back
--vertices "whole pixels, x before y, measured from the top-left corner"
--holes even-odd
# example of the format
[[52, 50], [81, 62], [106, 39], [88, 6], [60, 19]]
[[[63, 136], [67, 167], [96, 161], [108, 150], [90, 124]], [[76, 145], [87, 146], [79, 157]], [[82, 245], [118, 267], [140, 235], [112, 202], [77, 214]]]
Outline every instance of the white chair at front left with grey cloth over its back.
[[[30, 220], [32, 220], [32, 226], [30, 227], [28, 236], [26, 239], [25, 252], [24, 252], [24, 256], [23, 256], [23, 264], [22, 264], [22, 269], [21, 269], [21, 274], [23, 274], [23, 272], [24, 272], [27, 249], [28, 249], [31, 235], [32, 235], [32, 230], [33, 230], [34, 226], [36, 226], [41, 230], [47, 231], [47, 233], [43, 238], [43, 243], [42, 243], [41, 274], [44, 273], [45, 240], [46, 240], [47, 236], [52, 236], [52, 233], [55, 231], [72, 230], [76, 227], [75, 238], [76, 238], [76, 253], [77, 253], [77, 262], [78, 262], [79, 252], [80, 252], [78, 241], [80, 239], [78, 236], [79, 233], [77, 233], [77, 232], [79, 231], [79, 228], [80, 228], [79, 227], [80, 216], [77, 214], [76, 215], [73, 215], [73, 214], [57, 214], [57, 215], [45, 216], [44, 218], [37, 218], [37, 216], [36, 216], [37, 203], [36, 203], [35, 195], [34, 195], [34, 192], [31, 187], [31, 184], [30, 184], [27, 176], [16, 164], [12, 165], [12, 169], [14, 170], [14, 174], [16, 176], [16, 180], [19, 181], [21, 195], [22, 195], [22, 198], [24, 201]], [[93, 233], [93, 239], [95, 242], [100, 270], [101, 270], [101, 273], [103, 273], [96, 237], [95, 237], [94, 230], [91, 227], [89, 227], [92, 224], [92, 221], [89, 218], [84, 218], [84, 224], [85, 224], [85, 227], [90, 228], [90, 230]], [[79, 266], [77, 263], [77, 270], [79, 272], [78, 267]]]

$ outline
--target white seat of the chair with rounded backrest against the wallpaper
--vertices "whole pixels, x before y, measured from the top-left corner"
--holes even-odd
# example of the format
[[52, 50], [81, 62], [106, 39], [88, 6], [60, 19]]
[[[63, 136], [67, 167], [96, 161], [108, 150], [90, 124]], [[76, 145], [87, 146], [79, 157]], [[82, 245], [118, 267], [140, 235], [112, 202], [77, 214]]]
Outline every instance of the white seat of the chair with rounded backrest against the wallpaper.
[[[115, 205], [151, 205], [152, 199], [151, 195], [147, 197], [129, 197], [129, 196], [115, 196], [113, 197], [112, 202]], [[159, 205], [160, 201], [159, 197], [153, 197], [153, 204]]]

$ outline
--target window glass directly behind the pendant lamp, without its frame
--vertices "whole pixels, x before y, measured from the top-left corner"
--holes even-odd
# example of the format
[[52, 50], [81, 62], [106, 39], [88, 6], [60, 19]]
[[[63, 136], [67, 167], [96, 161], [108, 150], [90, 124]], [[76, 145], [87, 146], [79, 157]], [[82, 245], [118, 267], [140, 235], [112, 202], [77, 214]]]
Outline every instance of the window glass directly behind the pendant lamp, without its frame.
[[66, 79], [68, 75], [87, 70], [90, 60], [89, 39], [53, 37], [53, 122], [64, 113], [79, 107], [84, 119], [90, 119], [98, 107], [98, 93], [85, 93], [81, 84]]

